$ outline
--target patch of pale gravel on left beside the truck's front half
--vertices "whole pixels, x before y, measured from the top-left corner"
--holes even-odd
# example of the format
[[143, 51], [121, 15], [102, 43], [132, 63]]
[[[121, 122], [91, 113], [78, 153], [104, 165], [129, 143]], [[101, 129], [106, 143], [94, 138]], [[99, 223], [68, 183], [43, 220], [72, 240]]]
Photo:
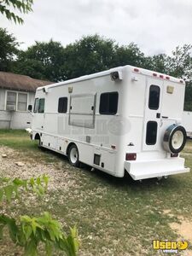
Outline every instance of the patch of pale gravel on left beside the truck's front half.
[[[2, 155], [6, 154], [7, 157]], [[17, 166], [17, 162], [21, 162], [24, 166]], [[1, 177], [20, 177], [30, 178], [38, 177], [43, 174], [49, 176], [49, 190], [70, 189], [75, 186], [75, 180], [69, 174], [68, 164], [65, 170], [62, 170], [63, 162], [59, 162], [55, 167], [54, 164], [44, 165], [37, 163], [36, 160], [27, 160], [25, 154], [18, 153], [16, 150], [1, 147], [0, 148], [0, 175]]]

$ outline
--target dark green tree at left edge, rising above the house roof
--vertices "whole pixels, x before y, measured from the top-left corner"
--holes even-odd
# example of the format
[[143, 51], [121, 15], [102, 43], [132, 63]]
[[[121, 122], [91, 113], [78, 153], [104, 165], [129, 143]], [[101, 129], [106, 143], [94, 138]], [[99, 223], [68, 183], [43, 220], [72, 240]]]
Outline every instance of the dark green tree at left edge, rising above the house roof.
[[0, 71], [11, 70], [15, 55], [19, 51], [17, 49], [19, 45], [12, 34], [9, 34], [6, 29], [0, 28]]

